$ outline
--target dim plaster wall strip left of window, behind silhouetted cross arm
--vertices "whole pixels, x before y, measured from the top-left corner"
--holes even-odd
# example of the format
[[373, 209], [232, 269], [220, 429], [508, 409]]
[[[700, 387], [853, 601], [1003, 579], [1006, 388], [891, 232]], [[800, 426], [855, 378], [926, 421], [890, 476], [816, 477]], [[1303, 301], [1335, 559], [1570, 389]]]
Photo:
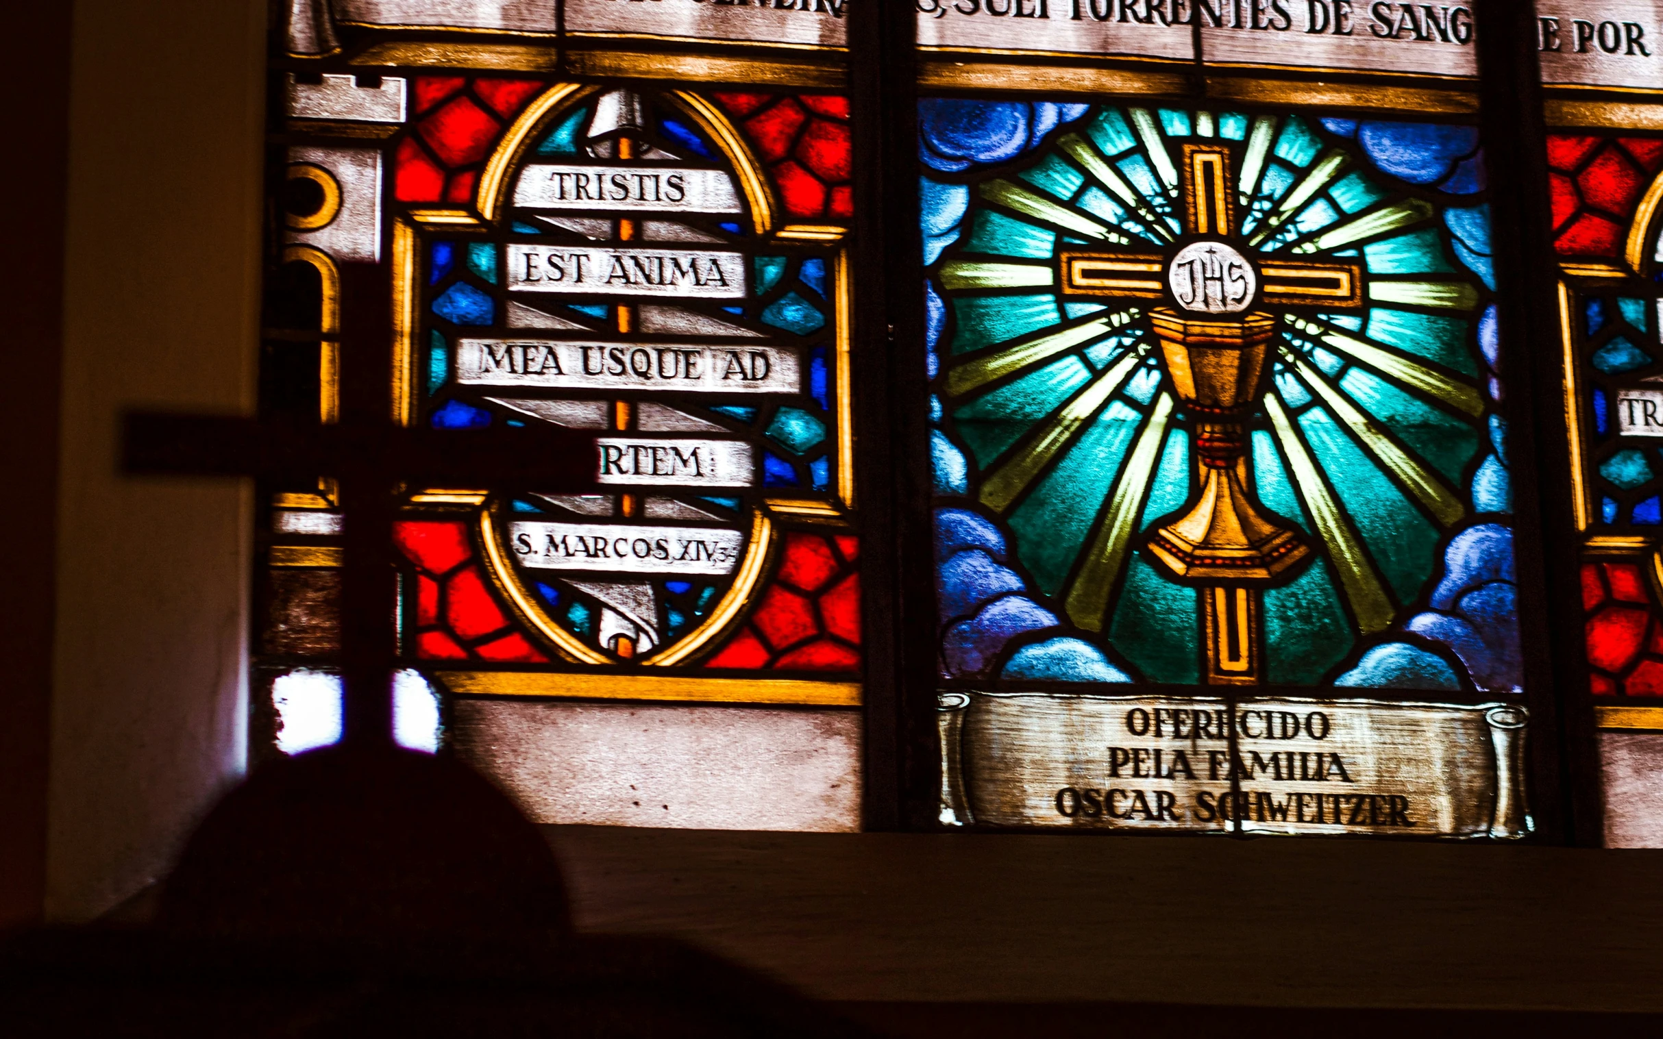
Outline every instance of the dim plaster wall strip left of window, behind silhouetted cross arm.
[[261, 0], [75, 5], [47, 858], [60, 921], [165, 873], [243, 770], [248, 490], [118, 477], [115, 432], [130, 406], [253, 409], [264, 30]]

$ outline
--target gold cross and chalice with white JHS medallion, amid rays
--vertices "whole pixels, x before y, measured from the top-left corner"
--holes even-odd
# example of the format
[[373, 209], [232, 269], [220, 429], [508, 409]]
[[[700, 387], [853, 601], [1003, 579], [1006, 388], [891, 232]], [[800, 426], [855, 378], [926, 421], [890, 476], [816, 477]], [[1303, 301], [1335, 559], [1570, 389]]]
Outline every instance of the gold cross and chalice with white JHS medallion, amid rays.
[[1184, 236], [1167, 254], [1061, 253], [1064, 296], [1159, 299], [1149, 324], [1194, 426], [1197, 479], [1186, 505], [1156, 524], [1144, 549], [1169, 579], [1201, 587], [1207, 680], [1257, 683], [1262, 592], [1312, 559], [1290, 522], [1252, 490], [1247, 421], [1266, 391], [1277, 331], [1264, 304], [1362, 306], [1362, 271], [1345, 263], [1271, 258], [1266, 241], [1304, 199], [1289, 198], [1241, 241], [1231, 153], [1186, 145]]

